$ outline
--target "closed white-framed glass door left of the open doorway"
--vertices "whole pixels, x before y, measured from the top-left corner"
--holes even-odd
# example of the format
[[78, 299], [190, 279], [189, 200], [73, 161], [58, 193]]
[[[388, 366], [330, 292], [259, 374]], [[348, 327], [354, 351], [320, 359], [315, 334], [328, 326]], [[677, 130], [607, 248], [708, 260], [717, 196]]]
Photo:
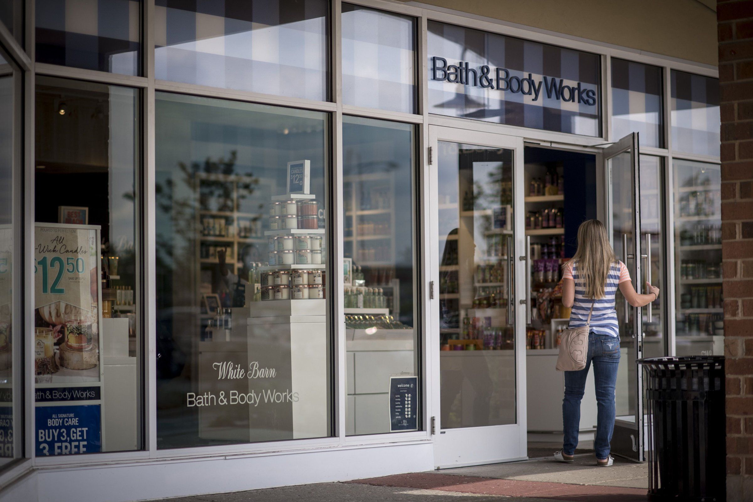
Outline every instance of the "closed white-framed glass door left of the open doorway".
[[434, 463], [525, 458], [523, 141], [429, 135]]

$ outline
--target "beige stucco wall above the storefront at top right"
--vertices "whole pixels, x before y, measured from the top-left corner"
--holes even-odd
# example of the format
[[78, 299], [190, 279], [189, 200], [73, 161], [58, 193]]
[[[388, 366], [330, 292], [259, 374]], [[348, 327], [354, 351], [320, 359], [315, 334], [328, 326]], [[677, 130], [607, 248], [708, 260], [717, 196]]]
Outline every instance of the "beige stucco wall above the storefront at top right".
[[422, 0], [414, 3], [437, 5], [707, 65], [718, 63], [714, 0]]

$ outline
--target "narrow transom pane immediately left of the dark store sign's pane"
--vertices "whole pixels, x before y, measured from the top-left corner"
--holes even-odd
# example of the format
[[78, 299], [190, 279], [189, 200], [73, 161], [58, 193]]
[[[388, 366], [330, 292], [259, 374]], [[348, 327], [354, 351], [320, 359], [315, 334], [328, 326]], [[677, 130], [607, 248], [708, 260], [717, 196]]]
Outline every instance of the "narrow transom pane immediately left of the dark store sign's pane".
[[343, 4], [343, 103], [415, 113], [416, 20]]

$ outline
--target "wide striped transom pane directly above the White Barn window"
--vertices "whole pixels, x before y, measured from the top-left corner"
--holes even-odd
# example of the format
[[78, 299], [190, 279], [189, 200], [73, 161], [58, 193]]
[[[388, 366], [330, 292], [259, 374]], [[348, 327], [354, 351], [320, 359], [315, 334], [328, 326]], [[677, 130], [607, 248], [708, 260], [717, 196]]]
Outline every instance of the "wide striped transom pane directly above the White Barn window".
[[157, 0], [157, 78], [325, 101], [328, 12], [327, 0]]

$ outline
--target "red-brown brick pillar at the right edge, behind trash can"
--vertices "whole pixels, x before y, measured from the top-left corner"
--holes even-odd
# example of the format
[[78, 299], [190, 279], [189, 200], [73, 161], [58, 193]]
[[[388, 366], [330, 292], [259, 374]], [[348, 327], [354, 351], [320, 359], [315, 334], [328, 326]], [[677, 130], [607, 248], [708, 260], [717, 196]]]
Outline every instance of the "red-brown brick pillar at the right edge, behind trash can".
[[717, 5], [727, 500], [753, 500], [753, 0]]

